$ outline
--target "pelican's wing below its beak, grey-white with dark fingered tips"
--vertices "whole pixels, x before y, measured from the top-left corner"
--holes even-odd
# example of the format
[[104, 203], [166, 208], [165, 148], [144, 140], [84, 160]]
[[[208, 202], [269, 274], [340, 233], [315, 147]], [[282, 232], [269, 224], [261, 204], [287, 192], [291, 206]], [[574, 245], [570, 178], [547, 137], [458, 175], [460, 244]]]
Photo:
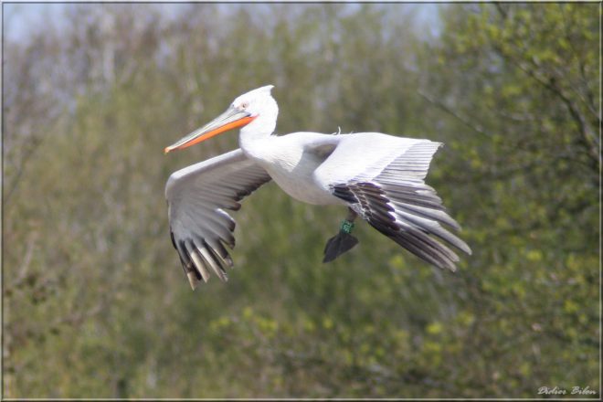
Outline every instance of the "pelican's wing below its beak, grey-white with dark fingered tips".
[[193, 289], [211, 271], [227, 280], [225, 269], [233, 264], [224, 244], [235, 247], [235, 221], [225, 209], [238, 210], [238, 201], [269, 181], [240, 149], [192, 164], [167, 180], [172, 243]]

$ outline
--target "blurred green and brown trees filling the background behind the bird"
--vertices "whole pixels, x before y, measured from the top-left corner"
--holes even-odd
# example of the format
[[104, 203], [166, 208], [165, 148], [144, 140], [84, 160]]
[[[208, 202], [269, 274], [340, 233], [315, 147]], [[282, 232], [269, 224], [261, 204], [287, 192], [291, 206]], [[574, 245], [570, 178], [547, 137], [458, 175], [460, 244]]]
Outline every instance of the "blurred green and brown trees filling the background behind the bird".
[[[4, 396], [598, 391], [600, 10], [4, 5]], [[237, 134], [164, 146], [266, 84], [280, 133], [446, 143], [428, 184], [473, 256], [437, 270], [363, 224], [323, 265], [344, 211], [270, 184], [230, 280], [191, 291], [164, 184]]]

